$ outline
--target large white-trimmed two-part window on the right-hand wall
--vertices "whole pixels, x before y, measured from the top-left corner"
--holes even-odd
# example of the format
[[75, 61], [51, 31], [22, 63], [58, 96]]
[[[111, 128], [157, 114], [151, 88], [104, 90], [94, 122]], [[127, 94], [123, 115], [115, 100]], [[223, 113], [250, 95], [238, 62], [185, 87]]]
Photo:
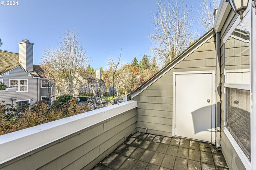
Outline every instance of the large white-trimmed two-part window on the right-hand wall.
[[251, 161], [250, 12], [224, 37], [224, 133], [244, 166]]

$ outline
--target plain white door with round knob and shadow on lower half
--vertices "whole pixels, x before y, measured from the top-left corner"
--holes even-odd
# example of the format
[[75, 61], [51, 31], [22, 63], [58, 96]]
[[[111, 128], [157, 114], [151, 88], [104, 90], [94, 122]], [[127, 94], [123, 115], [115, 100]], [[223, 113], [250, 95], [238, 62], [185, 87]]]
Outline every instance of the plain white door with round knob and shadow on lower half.
[[175, 136], [211, 142], [212, 73], [174, 75]]

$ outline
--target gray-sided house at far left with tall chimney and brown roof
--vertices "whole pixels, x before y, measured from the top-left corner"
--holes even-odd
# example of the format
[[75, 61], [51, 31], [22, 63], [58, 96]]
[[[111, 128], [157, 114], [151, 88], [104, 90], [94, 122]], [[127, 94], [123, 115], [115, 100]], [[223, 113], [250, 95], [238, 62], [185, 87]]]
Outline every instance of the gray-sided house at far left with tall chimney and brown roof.
[[42, 66], [33, 64], [34, 44], [25, 39], [18, 45], [19, 53], [0, 51], [0, 81], [8, 87], [0, 91], [0, 101], [14, 106], [40, 100], [53, 102], [54, 81], [43, 77]]

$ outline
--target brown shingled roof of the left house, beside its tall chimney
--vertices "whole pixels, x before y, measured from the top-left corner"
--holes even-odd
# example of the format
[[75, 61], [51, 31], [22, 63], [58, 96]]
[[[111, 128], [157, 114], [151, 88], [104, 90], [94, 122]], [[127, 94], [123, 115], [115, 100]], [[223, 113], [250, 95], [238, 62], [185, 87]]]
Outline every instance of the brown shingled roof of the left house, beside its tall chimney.
[[[4, 74], [17, 66], [21, 66], [19, 63], [18, 53], [0, 51], [0, 74]], [[40, 69], [38, 69], [38, 67], [40, 66], [34, 65], [34, 71], [27, 71], [27, 72], [34, 77], [41, 77], [40, 73], [42, 74], [42, 72], [40, 71]]]

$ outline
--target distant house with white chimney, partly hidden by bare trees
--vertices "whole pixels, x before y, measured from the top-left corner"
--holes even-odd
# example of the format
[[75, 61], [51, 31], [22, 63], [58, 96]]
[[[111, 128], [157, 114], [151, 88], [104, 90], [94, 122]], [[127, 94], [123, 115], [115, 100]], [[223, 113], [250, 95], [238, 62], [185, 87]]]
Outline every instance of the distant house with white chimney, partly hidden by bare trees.
[[101, 79], [101, 70], [97, 69], [95, 74], [86, 72], [78, 76], [78, 91], [76, 95], [83, 92], [92, 92], [94, 96], [102, 96], [106, 92], [105, 82]]

